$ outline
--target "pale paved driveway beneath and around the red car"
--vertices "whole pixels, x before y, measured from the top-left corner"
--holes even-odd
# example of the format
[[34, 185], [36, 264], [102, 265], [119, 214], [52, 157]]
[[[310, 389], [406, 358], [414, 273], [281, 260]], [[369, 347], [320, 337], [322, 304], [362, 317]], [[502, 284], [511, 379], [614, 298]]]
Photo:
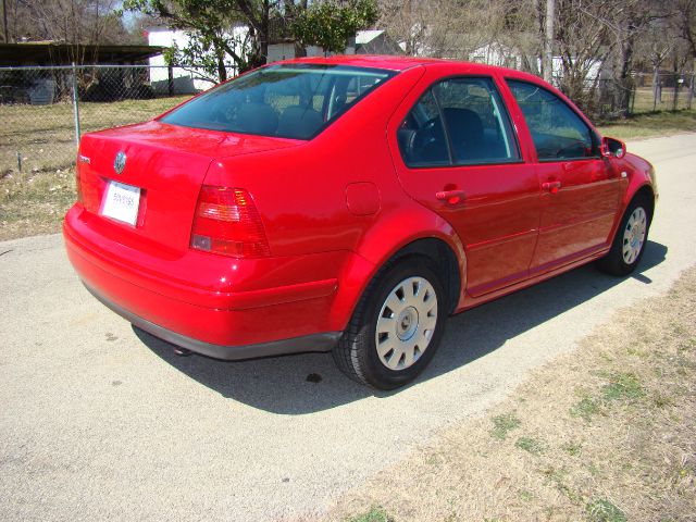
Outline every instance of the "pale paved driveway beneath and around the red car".
[[177, 358], [82, 287], [60, 236], [0, 243], [0, 519], [321, 510], [694, 264], [696, 135], [629, 149], [654, 162], [660, 188], [639, 273], [587, 266], [460, 314], [422, 378], [393, 394], [348, 381], [330, 355]]

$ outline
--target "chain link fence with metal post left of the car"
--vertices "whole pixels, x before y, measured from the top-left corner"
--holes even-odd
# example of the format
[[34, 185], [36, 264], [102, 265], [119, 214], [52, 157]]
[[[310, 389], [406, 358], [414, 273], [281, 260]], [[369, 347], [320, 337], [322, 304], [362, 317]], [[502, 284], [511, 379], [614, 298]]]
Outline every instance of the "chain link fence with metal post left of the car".
[[0, 67], [0, 176], [70, 169], [82, 134], [149, 120], [211, 86], [166, 66]]

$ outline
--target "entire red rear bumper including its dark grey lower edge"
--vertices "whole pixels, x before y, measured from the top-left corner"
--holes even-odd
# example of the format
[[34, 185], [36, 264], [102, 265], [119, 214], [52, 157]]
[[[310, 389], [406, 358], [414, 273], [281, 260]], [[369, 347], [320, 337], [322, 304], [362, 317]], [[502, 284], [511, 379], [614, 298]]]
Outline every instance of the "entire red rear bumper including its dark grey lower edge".
[[90, 220], [79, 206], [65, 216], [71, 263], [101, 302], [156, 337], [234, 360], [326, 351], [340, 335], [332, 314], [340, 252], [245, 261], [158, 256], [110, 239]]

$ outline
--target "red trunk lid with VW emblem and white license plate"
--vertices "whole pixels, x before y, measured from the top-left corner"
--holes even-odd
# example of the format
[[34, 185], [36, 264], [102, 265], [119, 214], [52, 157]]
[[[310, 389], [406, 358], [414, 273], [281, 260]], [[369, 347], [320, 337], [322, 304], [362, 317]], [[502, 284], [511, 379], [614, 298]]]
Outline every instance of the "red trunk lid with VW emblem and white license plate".
[[196, 202], [212, 161], [296, 145], [151, 121], [85, 135], [78, 188], [102, 235], [175, 254], [189, 247]]

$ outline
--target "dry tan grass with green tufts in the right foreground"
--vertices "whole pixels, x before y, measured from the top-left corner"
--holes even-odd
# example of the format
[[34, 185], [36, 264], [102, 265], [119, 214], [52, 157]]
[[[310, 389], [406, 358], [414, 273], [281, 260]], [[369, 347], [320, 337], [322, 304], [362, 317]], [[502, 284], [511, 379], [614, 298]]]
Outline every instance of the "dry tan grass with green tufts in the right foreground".
[[[696, 520], [696, 269], [326, 520]], [[378, 513], [381, 518], [366, 518]], [[362, 518], [360, 518], [362, 517]]]

